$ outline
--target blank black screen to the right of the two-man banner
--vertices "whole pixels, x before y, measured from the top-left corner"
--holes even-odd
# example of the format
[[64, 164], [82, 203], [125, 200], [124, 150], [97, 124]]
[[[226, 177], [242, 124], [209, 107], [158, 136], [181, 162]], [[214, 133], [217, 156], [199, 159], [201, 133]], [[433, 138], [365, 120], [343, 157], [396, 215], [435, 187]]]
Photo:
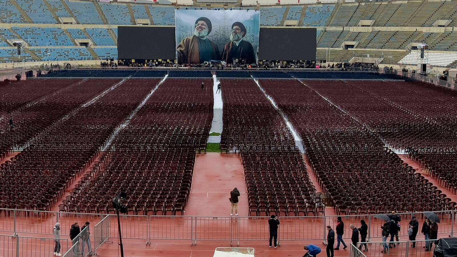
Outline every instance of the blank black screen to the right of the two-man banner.
[[316, 59], [315, 28], [260, 28], [259, 60]]

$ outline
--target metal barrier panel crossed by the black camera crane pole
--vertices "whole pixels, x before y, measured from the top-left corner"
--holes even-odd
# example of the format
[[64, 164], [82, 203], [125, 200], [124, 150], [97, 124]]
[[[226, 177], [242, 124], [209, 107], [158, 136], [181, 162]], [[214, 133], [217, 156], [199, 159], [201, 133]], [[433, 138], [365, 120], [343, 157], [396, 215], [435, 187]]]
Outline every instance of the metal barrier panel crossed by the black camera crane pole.
[[[109, 214], [112, 226], [110, 237], [118, 237], [117, 215]], [[148, 216], [143, 215], [120, 215], [122, 238], [144, 239], [149, 241]]]

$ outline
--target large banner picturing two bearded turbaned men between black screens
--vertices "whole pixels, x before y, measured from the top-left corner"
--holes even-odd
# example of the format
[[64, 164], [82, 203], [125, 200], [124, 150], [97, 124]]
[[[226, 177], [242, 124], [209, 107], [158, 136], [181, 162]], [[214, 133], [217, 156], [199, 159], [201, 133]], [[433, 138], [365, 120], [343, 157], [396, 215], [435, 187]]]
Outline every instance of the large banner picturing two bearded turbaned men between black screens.
[[257, 63], [260, 12], [175, 10], [178, 64]]

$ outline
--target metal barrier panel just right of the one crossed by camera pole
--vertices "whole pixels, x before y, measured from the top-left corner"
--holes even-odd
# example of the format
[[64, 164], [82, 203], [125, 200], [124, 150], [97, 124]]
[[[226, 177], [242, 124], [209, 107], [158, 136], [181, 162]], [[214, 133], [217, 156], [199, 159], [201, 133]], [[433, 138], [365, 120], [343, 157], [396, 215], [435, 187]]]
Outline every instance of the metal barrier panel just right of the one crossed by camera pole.
[[194, 219], [193, 216], [149, 216], [149, 241], [190, 240], [192, 244]]

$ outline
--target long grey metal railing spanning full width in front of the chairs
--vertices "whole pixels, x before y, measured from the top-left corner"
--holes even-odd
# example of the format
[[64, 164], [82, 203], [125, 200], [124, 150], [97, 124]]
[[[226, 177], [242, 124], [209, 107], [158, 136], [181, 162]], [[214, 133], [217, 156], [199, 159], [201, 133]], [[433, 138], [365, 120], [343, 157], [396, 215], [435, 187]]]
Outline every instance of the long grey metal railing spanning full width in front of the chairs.
[[[456, 210], [436, 211], [441, 219], [439, 235], [455, 236], [457, 229]], [[400, 236], [407, 235], [408, 222], [414, 215], [422, 225], [425, 220], [423, 213], [400, 213], [402, 221]], [[379, 240], [382, 237], [381, 226], [384, 221], [374, 218], [374, 214], [340, 215], [345, 223], [344, 239], [351, 237], [351, 224], [360, 225], [365, 220], [368, 225], [367, 241]], [[330, 225], [335, 229], [338, 216], [303, 216], [280, 217], [278, 241], [286, 240], [326, 240]], [[267, 240], [269, 238], [269, 217], [204, 217], [204, 216], [147, 216], [121, 215], [122, 236], [129, 239], [143, 240], [149, 244], [151, 240], [182, 240], [190, 241], [191, 245], [198, 241], [228, 241], [231, 244], [239, 241]], [[114, 214], [83, 214], [47, 211], [0, 209], [0, 231], [17, 236], [19, 233], [52, 235], [56, 222], [61, 226], [61, 234], [69, 235], [69, 225], [85, 221], [96, 224], [90, 238], [94, 249], [117, 238], [117, 218]], [[1, 248], [0, 248], [1, 249]], [[1, 255], [0, 255], [1, 256]]]

